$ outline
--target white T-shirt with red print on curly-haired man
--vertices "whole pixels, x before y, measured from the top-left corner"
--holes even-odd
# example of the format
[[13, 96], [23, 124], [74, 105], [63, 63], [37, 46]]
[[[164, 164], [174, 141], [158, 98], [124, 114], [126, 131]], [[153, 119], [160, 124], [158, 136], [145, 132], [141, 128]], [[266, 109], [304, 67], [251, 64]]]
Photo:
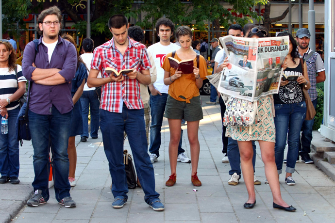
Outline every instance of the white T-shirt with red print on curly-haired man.
[[170, 43], [168, 46], [155, 43], [148, 47], [148, 52], [151, 53], [157, 69], [157, 79], [156, 82], [153, 83], [153, 86], [160, 93], [168, 94], [168, 86], [164, 84], [164, 69], [162, 68], [165, 57], [168, 53], [179, 48], [179, 46], [173, 43]]

